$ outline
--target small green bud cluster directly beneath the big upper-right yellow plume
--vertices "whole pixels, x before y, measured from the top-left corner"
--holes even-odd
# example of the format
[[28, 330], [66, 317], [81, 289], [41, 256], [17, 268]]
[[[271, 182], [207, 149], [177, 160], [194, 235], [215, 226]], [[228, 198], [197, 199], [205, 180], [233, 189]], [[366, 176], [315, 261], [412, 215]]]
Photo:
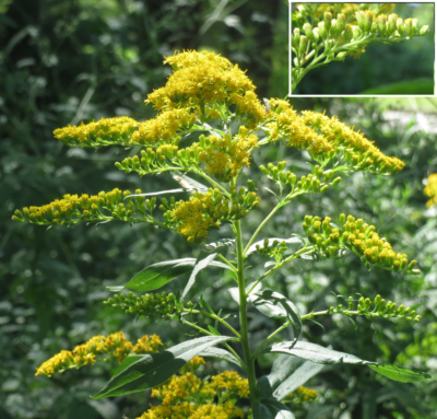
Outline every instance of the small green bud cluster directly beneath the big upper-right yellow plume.
[[285, 172], [286, 162], [279, 162], [275, 166], [273, 163], [269, 163], [268, 166], [260, 166], [260, 171], [263, 175], [272, 179], [276, 184], [284, 186], [288, 185], [292, 188], [292, 194], [294, 193], [308, 193], [318, 194], [324, 193], [330, 185], [336, 185], [341, 182], [341, 177], [335, 177], [331, 183], [329, 183], [334, 176], [333, 171], [324, 172], [319, 165], [314, 167], [314, 173], [307, 176], [302, 176], [297, 179], [297, 176], [291, 171]]

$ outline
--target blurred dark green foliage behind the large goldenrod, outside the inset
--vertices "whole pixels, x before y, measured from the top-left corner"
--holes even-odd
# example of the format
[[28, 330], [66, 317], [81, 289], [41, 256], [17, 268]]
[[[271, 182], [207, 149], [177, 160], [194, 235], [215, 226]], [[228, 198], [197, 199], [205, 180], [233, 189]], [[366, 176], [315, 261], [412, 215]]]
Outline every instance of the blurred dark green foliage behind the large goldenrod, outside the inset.
[[[67, 149], [52, 130], [68, 124], [114, 115], [140, 120], [153, 115], [142, 101], [164, 84], [169, 72], [163, 55], [175, 49], [208, 48], [248, 70], [261, 97], [287, 93], [287, 4], [253, 1], [55, 1], [0, 2], [0, 418], [118, 419], [134, 418], [149, 406], [149, 394], [92, 401], [90, 394], [107, 381], [116, 365], [69, 371], [54, 379], [35, 377], [35, 368], [62, 349], [91, 336], [122, 329], [134, 340], [157, 333], [168, 346], [186, 339], [178, 323], [150, 323], [107, 309], [106, 287], [126, 283], [143, 267], [199, 249], [167, 231], [123, 223], [46, 230], [10, 221], [15, 208], [42, 205], [67, 193], [98, 193], [114, 187], [143, 190], [173, 188], [165, 176], [138, 178], [115, 168], [114, 162], [138, 149]], [[285, 69], [285, 70], [284, 70]], [[343, 78], [343, 80], [349, 80]], [[353, 212], [379, 226], [397, 249], [417, 258], [423, 275], [406, 277], [371, 270], [353, 256], [340, 261], [288, 266], [270, 287], [286, 294], [303, 311], [332, 305], [331, 291], [356, 292], [412, 305], [424, 318], [358, 319], [358, 329], [344, 318], [326, 318], [320, 328], [307, 324], [304, 338], [332, 345], [370, 360], [399, 362], [437, 372], [437, 214], [426, 210], [423, 181], [437, 172], [434, 100], [294, 98], [298, 109], [327, 109], [355, 125], [383, 152], [406, 163], [390, 178], [356, 174], [323, 196], [302, 197], [270, 223], [265, 234], [286, 237], [302, 233], [307, 213]], [[302, 175], [307, 156], [276, 144], [256, 152], [250, 175], [259, 183], [259, 213], [245, 219], [252, 231], [273, 197], [263, 190], [261, 162], [286, 160]], [[270, 185], [269, 185], [270, 187]], [[211, 241], [226, 236], [226, 229]], [[265, 261], [252, 256], [253, 277]], [[259, 265], [260, 264], [260, 265]], [[259, 266], [259, 267], [257, 267]], [[222, 276], [220, 276], [222, 275]], [[182, 287], [176, 280], [166, 287]], [[200, 276], [201, 290], [213, 307], [236, 311], [229, 278], [216, 269]], [[274, 321], [250, 311], [253, 344], [275, 328]], [[285, 333], [283, 337], [288, 337]], [[258, 374], [270, 371], [261, 359]], [[229, 365], [209, 361], [206, 375]], [[327, 368], [309, 386], [318, 400], [304, 406], [298, 418], [436, 418], [435, 380], [423, 385], [399, 384], [370, 371], [345, 365]]]

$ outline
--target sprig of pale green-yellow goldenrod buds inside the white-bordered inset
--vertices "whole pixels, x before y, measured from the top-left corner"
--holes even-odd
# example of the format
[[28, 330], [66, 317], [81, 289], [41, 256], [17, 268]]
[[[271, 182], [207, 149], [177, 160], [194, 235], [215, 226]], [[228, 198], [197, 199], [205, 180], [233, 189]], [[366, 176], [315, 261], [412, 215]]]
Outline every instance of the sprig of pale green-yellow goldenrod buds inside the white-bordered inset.
[[[371, 43], [392, 44], [426, 35], [417, 19], [390, 13], [393, 3], [299, 3], [292, 23], [292, 92], [318, 67], [359, 57]], [[388, 65], [390, 65], [388, 62]]]

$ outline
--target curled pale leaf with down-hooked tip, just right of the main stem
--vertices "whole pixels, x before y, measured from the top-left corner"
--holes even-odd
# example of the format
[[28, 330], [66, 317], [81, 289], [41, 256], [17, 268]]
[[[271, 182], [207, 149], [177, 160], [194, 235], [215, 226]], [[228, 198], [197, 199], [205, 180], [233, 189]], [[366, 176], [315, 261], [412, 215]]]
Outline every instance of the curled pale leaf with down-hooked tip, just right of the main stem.
[[295, 338], [300, 335], [300, 315], [297, 307], [286, 296], [272, 290], [264, 290], [250, 294], [248, 300], [263, 315], [288, 321], [293, 327]]

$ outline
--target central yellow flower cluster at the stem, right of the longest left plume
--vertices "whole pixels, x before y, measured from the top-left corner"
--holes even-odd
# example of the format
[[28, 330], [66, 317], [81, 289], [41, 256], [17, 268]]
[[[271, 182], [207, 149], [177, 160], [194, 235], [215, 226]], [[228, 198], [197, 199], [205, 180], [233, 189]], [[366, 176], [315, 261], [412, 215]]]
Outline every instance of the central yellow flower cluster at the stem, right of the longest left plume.
[[260, 202], [260, 198], [245, 187], [238, 193], [233, 188], [231, 193], [232, 199], [227, 199], [217, 188], [210, 188], [205, 194], [194, 191], [188, 201], [168, 205], [163, 199], [160, 209], [165, 211], [164, 218], [168, 228], [186, 236], [189, 243], [199, 243], [205, 240], [210, 230], [218, 229], [221, 221], [246, 217]]

